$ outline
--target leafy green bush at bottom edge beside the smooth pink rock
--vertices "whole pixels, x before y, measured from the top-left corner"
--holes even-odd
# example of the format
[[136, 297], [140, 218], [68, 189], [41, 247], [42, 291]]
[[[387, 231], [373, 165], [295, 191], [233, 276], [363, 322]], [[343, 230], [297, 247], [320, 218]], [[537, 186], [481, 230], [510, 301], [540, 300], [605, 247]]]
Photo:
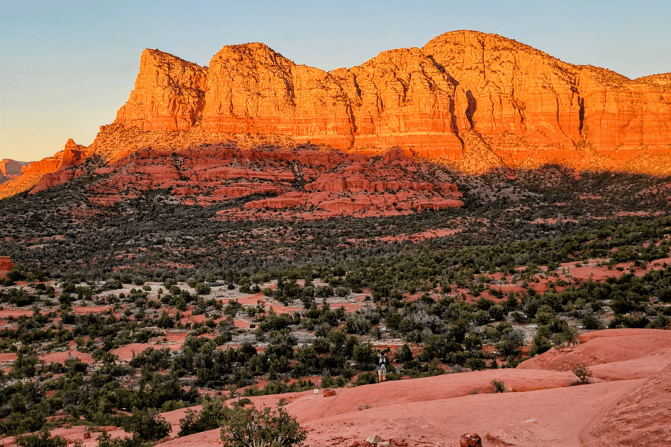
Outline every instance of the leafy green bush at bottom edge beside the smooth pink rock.
[[307, 431], [284, 407], [259, 411], [254, 407], [232, 409], [221, 431], [224, 447], [302, 446]]

